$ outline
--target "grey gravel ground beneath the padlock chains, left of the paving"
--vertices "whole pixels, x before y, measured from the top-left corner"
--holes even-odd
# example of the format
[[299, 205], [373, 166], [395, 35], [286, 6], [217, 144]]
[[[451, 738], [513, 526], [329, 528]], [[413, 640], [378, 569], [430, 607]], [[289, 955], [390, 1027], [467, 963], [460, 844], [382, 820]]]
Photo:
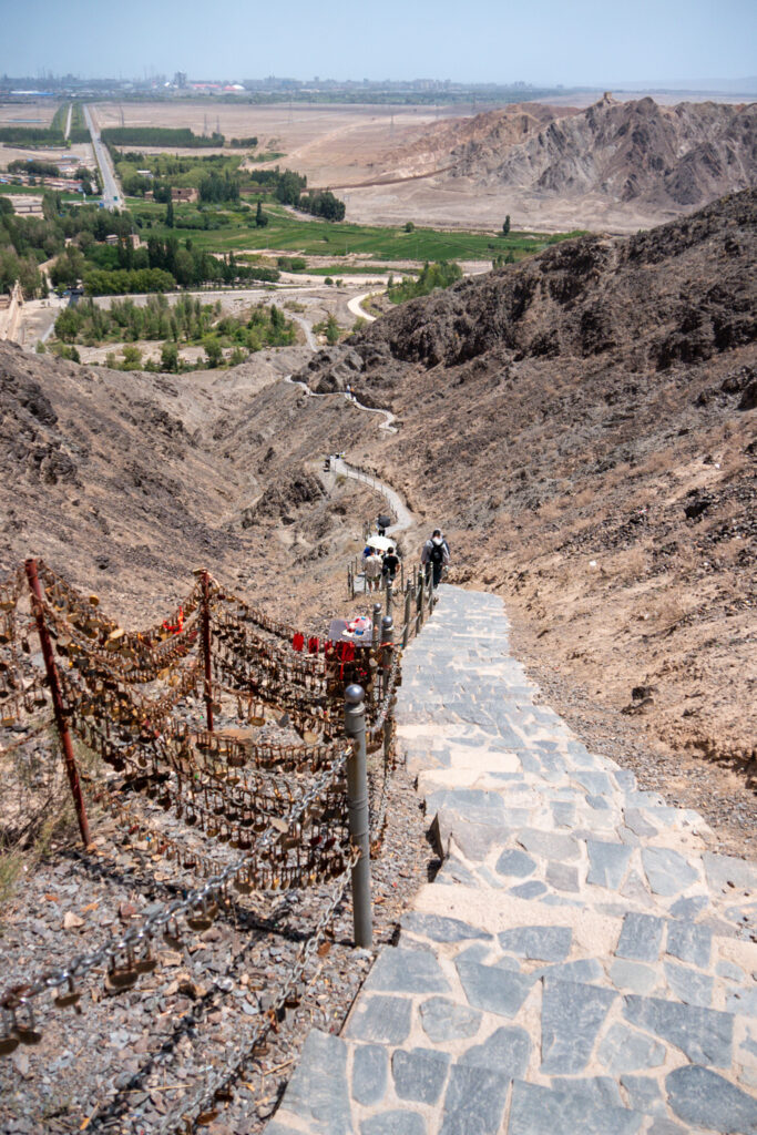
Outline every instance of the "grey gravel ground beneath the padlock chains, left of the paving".
[[[117, 777], [116, 777], [117, 780]], [[146, 804], [151, 822], [159, 809]], [[392, 781], [388, 824], [373, 864], [375, 944], [389, 941], [411, 894], [434, 867], [423, 816], [399, 767]], [[178, 827], [168, 819], [167, 834]], [[47, 965], [90, 951], [133, 918], [195, 885], [196, 878], [150, 854], [142, 833], [108, 815], [91, 815], [96, 848], [74, 840], [53, 844], [2, 911], [2, 985]], [[183, 830], [185, 842], [201, 838]], [[215, 849], [219, 861], [230, 854]], [[238, 854], [238, 852], [237, 852]], [[286, 982], [301, 942], [312, 933], [334, 884], [280, 898], [238, 897], [203, 931], [157, 943], [158, 966], [116, 991], [104, 972], [82, 983], [74, 1008], [47, 998], [36, 1043], [0, 1060], [0, 1132], [109, 1132], [146, 1135], [222, 1068]], [[373, 953], [352, 947], [350, 888], [336, 909], [334, 938], [305, 970], [306, 990], [285, 1010], [263, 1048], [246, 1060], [230, 1099], [205, 1112], [202, 1129], [254, 1135], [274, 1111], [311, 1027], [338, 1033]]]

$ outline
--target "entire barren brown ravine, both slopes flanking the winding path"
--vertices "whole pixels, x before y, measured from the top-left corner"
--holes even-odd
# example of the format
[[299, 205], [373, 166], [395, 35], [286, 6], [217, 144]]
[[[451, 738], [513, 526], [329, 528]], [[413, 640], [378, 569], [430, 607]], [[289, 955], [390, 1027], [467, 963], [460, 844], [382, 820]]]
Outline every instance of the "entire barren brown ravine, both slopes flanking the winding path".
[[[348, 484], [323, 493], [323, 454], [346, 451], [423, 527], [444, 524], [453, 579], [505, 597], [556, 701], [626, 711], [661, 751], [742, 783], [757, 735], [756, 219], [751, 191], [629, 239], [556, 245], [318, 356], [182, 377], [2, 346], [0, 571], [41, 554], [143, 620], [207, 563], [322, 625], [378, 506]], [[313, 389], [350, 381], [390, 406], [399, 432], [279, 380], [297, 365]]]

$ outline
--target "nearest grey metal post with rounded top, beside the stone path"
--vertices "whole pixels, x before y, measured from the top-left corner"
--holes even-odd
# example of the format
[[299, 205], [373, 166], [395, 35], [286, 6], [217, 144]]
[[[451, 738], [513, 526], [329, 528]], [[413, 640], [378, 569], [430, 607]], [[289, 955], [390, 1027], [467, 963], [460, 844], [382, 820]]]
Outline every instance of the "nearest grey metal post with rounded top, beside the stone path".
[[362, 686], [348, 686], [344, 691], [344, 729], [354, 740], [347, 759], [347, 805], [352, 846], [360, 859], [352, 868], [352, 911], [355, 945], [370, 947], [373, 941], [371, 910], [371, 847], [368, 816], [368, 771], [365, 763], [365, 706]]

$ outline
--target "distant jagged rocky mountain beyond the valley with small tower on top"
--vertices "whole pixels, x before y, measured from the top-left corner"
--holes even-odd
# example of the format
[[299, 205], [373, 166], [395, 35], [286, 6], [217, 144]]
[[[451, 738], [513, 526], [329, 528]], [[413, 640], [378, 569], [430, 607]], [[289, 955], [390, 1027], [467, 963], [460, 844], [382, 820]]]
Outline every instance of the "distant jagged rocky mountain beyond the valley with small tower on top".
[[605, 95], [513, 144], [499, 124], [463, 140], [449, 176], [539, 199], [598, 195], [682, 212], [757, 179], [757, 103], [663, 107]]

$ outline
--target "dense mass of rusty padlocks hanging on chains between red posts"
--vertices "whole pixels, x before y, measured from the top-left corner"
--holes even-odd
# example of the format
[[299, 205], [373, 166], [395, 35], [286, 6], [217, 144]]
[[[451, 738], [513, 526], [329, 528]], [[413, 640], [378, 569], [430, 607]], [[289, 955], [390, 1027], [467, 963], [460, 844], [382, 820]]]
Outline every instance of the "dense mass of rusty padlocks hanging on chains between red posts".
[[[34, 999], [40, 993], [52, 992], [58, 1006], [75, 1003], [83, 977], [103, 968], [113, 987], [128, 987], [154, 965], [158, 936], [178, 936], [182, 919], [192, 928], [209, 925], [232, 889], [277, 893], [346, 878], [359, 855], [348, 834], [351, 742], [343, 735], [344, 690], [351, 682], [365, 690], [368, 751], [384, 748], [371, 777], [370, 834], [378, 850], [394, 767], [390, 715], [398, 651], [376, 641], [305, 640], [203, 575], [168, 619], [129, 631], [103, 616], [96, 596], [82, 595], [47, 565], [39, 568], [37, 625], [41, 616], [52, 639], [67, 726], [123, 774], [103, 780], [96, 798], [124, 831], [138, 833], [151, 854], [203, 883], [120, 939], [0, 995], [0, 1052], [37, 1028]], [[16, 611], [23, 591], [23, 573], [0, 588], [3, 659], [20, 649]], [[30, 625], [27, 620], [27, 637]], [[27, 644], [20, 653], [30, 649]], [[0, 689], [1, 675], [0, 670]], [[187, 707], [182, 707], [184, 720], [176, 709], [182, 699], [203, 691], [215, 708], [222, 695], [235, 698], [239, 718], [252, 725], [274, 716], [294, 728], [302, 742], [195, 731]], [[145, 808], [140, 797], [170, 810], [180, 826], [165, 830], [159, 812]]]

